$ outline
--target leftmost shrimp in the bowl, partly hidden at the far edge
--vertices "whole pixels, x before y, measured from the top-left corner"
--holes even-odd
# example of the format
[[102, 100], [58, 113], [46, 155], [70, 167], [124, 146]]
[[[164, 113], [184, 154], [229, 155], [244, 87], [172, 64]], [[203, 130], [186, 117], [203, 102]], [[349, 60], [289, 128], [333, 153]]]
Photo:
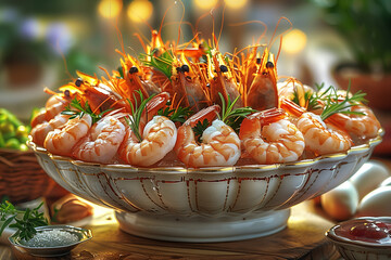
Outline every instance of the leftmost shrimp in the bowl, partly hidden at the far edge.
[[64, 126], [68, 118], [70, 116], [59, 114], [53, 119], [35, 126], [30, 131], [33, 142], [39, 146], [43, 146], [43, 142], [48, 133]]

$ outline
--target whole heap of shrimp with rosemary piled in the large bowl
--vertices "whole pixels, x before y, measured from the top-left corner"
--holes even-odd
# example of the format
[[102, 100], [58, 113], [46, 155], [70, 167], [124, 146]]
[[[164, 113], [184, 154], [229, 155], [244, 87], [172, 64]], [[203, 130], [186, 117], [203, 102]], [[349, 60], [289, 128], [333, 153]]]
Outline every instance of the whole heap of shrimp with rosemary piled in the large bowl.
[[161, 29], [150, 43], [139, 37], [138, 58], [122, 43], [119, 67], [103, 77], [77, 72], [46, 90], [31, 141], [84, 161], [202, 168], [344, 153], [381, 131], [362, 93], [279, 78], [273, 40], [223, 53], [214, 32], [179, 44]]

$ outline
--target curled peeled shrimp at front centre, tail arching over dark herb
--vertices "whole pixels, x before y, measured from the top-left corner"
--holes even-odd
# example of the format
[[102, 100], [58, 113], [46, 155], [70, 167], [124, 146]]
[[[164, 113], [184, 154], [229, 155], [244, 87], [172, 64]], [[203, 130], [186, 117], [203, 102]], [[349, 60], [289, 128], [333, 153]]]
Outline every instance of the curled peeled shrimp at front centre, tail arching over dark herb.
[[[219, 106], [206, 107], [190, 117], [178, 128], [174, 151], [187, 167], [234, 166], [240, 158], [238, 134], [219, 119]], [[207, 119], [212, 126], [202, 133], [202, 143], [195, 141], [192, 127]]]

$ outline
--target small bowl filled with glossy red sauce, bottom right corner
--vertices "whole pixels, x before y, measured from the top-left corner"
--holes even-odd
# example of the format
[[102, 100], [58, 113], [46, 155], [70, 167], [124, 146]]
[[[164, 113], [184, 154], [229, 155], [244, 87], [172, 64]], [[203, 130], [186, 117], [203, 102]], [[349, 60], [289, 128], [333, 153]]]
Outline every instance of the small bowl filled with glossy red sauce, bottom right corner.
[[345, 259], [391, 259], [391, 217], [348, 220], [326, 232]]

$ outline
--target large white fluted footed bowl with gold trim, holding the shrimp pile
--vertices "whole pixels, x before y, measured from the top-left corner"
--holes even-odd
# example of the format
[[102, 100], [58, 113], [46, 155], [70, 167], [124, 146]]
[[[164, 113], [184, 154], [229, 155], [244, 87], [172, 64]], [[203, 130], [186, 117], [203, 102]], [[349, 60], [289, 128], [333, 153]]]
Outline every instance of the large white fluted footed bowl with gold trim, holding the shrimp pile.
[[348, 180], [381, 134], [345, 153], [292, 164], [186, 169], [99, 165], [34, 148], [60, 185], [116, 210], [121, 229], [155, 239], [226, 242], [282, 230], [289, 208]]

